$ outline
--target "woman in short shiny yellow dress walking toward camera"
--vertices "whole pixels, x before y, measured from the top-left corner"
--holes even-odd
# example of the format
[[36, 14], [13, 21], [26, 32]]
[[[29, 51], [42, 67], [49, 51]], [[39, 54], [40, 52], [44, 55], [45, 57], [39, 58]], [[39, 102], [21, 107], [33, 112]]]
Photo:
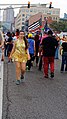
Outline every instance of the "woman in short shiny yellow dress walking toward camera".
[[26, 62], [30, 59], [28, 52], [28, 42], [24, 36], [24, 32], [20, 31], [19, 38], [14, 42], [10, 58], [15, 61], [16, 64], [16, 84], [20, 84], [20, 75], [23, 75], [26, 71]]

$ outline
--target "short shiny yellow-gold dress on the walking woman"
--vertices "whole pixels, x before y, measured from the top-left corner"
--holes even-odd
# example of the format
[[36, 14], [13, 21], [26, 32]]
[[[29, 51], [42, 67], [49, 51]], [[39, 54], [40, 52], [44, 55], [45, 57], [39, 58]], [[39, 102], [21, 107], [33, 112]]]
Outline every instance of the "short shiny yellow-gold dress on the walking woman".
[[19, 39], [17, 39], [15, 43], [15, 51], [12, 54], [13, 61], [17, 62], [27, 62], [27, 51], [25, 50], [25, 42], [22, 39], [22, 42], [20, 42]]

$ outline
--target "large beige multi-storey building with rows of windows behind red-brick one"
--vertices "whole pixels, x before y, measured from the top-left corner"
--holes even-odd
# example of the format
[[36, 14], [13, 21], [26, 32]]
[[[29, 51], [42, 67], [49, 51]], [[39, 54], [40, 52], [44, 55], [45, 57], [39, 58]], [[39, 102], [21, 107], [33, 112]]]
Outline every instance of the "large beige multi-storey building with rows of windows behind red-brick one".
[[42, 13], [44, 18], [51, 17], [53, 21], [58, 21], [60, 18], [60, 9], [46, 7], [46, 4], [38, 4], [27, 8], [22, 6], [19, 10], [19, 13], [16, 16], [15, 20], [15, 29], [24, 29], [25, 21], [28, 20], [31, 16]]

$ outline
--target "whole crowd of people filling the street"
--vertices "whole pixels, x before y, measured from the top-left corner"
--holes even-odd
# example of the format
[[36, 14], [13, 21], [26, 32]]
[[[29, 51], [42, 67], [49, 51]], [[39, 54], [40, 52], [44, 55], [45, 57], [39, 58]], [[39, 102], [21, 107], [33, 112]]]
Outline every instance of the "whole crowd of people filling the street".
[[48, 69], [50, 69], [50, 77], [53, 79], [54, 59], [59, 59], [60, 54], [62, 56], [60, 71], [67, 72], [67, 37], [60, 38], [51, 30], [44, 31], [43, 36], [39, 32], [34, 36], [32, 33], [25, 34], [18, 29], [15, 33], [7, 32], [4, 35], [0, 32], [0, 49], [1, 61], [4, 61], [5, 56], [8, 57], [8, 63], [15, 62], [17, 85], [25, 80], [24, 74], [26, 70], [31, 70], [34, 60], [39, 71], [43, 68], [44, 78], [49, 78]]

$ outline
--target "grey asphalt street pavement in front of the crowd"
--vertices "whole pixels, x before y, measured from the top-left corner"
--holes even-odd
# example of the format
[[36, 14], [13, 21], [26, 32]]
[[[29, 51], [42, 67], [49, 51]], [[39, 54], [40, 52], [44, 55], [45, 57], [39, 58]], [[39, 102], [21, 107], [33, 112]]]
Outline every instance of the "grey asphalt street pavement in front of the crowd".
[[2, 119], [67, 119], [67, 73], [60, 73], [55, 60], [54, 80], [33, 66], [26, 71], [25, 83], [15, 84], [14, 63], [4, 63]]

